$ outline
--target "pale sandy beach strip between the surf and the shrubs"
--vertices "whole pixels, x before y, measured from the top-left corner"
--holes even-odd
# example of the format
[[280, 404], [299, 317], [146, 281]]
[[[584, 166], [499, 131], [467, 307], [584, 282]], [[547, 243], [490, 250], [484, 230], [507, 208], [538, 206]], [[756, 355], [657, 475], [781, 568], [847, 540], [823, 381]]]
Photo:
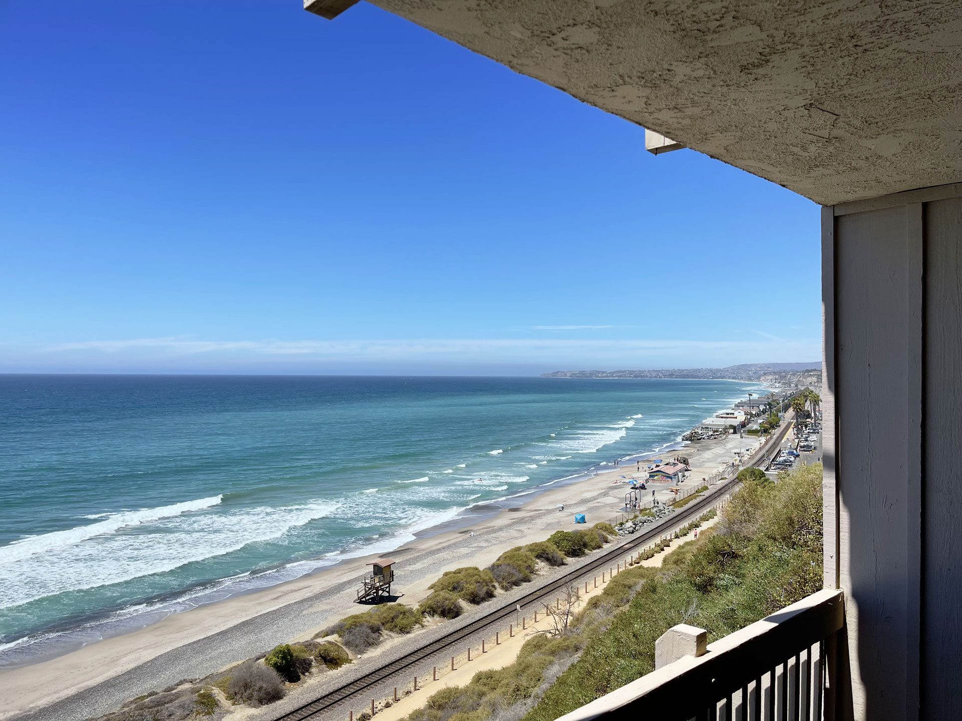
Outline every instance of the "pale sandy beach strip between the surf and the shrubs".
[[[757, 445], [752, 436], [729, 435], [665, 451], [660, 458], [689, 458], [687, 489], [701, 485], [736, 452]], [[485, 566], [513, 546], [574, 528], [575, 512], [585, 513], [589, 524], [619, 518], [626, 492], [621, 477], [645, 478], [644, 463], [641, 469], [637, 473], [635, 461], [625, 461], [577, 483], [548, 486], [526, 502], [520, 497], [518, 506], [475, 507], [455, 523], [422, 533], [391, 553], [400, 602], [417, 604], [445, 570]], [[674, 498], [666, 484], [649, 487], [662, 501]], [[557, 509], [560, 504], [564, 511]], [[55, 659], [0, 670], [0, 719], [88, 718], [125, 699], [255, 657], [277, 643], [310, 637], [357, 611], [355, 587], [366, 563], [375, 558], [349, 559], [291, 582], [167, 616]]]

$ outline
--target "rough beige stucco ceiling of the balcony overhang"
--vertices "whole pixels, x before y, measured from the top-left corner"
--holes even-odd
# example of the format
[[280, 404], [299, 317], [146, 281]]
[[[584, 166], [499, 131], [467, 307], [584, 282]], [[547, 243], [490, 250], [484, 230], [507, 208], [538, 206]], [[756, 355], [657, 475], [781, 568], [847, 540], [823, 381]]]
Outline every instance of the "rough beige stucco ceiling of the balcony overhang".
[[373, 0], [823, 205], [962, 180], [962, 1]]

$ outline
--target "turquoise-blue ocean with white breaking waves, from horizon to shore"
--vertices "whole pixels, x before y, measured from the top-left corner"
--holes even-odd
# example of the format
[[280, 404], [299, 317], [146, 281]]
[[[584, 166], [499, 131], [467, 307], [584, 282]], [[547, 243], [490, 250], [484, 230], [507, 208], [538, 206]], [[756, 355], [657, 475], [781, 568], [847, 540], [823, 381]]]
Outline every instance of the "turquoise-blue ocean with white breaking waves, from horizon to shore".
[[[0, 664], [677, 445], [725, 381], [0, 376]], [[512, 499], [518, 498], [518, 501]]]

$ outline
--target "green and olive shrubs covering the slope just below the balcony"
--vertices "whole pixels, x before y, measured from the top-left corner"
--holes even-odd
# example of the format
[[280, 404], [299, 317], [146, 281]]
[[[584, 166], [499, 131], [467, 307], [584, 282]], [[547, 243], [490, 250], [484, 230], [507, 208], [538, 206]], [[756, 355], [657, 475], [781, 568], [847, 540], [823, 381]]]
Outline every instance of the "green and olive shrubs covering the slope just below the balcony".
[[408, 721], [553, 721], [654, 670], [655, 640], [675, 624], [714, 641], [821, 588], [822, 466], [743, 483], [720, 521], [660, 568], [630, 566], [565, 634], [533, 635], [515, 663], [434, 694]]

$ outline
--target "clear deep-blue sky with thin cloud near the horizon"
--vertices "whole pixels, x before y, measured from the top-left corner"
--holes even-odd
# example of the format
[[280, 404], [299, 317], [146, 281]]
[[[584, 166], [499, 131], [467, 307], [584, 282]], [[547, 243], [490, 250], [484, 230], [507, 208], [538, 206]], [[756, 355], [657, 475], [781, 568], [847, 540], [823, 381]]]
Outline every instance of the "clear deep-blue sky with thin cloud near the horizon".
[[299, 5], [0, 2], [0, 372], [819, 358], [813, 203]]

